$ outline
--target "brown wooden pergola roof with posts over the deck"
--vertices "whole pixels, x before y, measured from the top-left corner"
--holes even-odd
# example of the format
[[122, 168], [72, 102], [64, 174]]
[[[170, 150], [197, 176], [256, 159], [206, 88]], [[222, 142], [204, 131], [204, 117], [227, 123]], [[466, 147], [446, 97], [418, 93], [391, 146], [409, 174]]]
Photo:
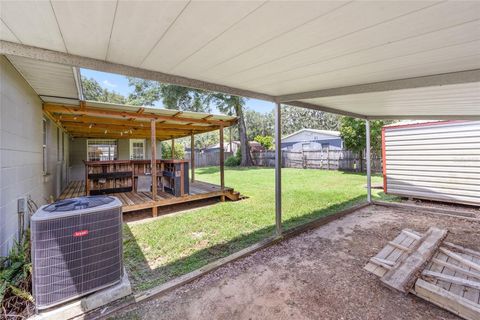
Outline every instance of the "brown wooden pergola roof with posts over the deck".
[[[171, 140], [172, 159], [177, 138], [190, 136], [191, 180], [195, 180], [195, 134], [219, 130], [220, 133], [220, 187], [225, 189], [223, 129], [234, 125], [237, 118], [199, 112], [117, 105], [93, 101], [78, 104], [45, 103], [43, 112], [62, 127], [72, 138], [151, 139], [152, 181], [156, 181], [156, 141]], [[152, 184], [152, 196], [157, 185]], [[221, 197], [223, 201], [225, 196]], [[156, 207], [153, 214], [156, 215]]]

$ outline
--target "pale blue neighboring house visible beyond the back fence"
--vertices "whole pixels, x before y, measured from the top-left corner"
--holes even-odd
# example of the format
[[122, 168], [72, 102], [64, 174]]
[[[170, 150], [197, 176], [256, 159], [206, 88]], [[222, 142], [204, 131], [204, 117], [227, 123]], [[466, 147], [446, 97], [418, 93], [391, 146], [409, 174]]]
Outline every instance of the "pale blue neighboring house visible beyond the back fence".
[[282, 150], [302, 151], [319, 149], [342, 150], [340, 132], [330, 130], [302, 129], [282, 138]]

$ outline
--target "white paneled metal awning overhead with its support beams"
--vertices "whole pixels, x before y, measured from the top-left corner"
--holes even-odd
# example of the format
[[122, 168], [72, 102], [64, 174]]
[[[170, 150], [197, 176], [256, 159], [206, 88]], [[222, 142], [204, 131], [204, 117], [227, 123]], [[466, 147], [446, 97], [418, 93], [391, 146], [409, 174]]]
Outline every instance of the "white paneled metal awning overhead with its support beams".
[[0, 6], [1, 54], [360, 117], [480, 117], [478, 1]]

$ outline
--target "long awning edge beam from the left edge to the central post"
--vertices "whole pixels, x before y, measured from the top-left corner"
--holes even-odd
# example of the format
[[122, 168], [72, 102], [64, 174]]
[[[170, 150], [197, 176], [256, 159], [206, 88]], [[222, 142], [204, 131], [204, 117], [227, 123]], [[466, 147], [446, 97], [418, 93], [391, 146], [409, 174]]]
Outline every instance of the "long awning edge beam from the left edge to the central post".
[[206, 81], [201, 81], [196, 79], [190, 79], [187, 77], [181, 77], [177, 75], [142, 69], [142, 68], [133, 67], [133, 66], [127, 66], [124, 64], [108, 62], [105, 60], [73, 55], [73, 54], [60, 52], [60, 51], [37, 48], [37, 47], [14, 43], [10, 41], [0, 40], [0, 54], [19, 56], [19, 57], [30, 58], [30, 59], [35, 59], [39, 61], [58, 63], [63, 65], [87, 68], [87, 69], [98, 70], [103, 72], [117, 73], [125, 76], [136, 77], [136, 78], [147, 79], [147, 80], [155, 80], [158, 82], [170, 83], [170, 84], [175, 84], [183, 87], [214, 91], [214, 92], [215, 91], [223, 92], [223, 93], [232, 94], [236, 96], [242, 96], [242, 97], [248, 97], [248, 98], [254, 98], [254, 99], [273, 102], [273, 96], [268, 94], [233, 88], [233, 87], [229, 87], [221, 84], [216, 84], [216, 83], [211, 83], [211, 82], [206, 82]]

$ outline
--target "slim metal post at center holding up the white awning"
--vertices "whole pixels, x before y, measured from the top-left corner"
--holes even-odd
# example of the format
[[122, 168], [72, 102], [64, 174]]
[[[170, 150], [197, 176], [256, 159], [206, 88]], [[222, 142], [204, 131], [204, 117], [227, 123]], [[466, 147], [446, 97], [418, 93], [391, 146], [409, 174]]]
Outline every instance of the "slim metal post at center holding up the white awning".
[[282, 115], [281, 104], [275, 105], [275, 226], [282, 235]]

